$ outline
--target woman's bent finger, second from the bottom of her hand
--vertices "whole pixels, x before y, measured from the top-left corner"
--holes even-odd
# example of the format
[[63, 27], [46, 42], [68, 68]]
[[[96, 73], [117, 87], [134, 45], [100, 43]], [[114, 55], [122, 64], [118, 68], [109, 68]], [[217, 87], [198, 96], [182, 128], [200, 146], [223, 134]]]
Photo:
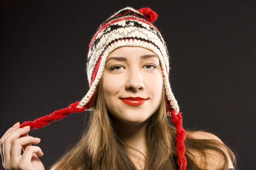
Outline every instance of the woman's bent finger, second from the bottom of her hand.
[[[17, 139], [14, 139], [12, 141], [12, 145], [11, 145], [11, 158], [14, 160], [17, 160], [20, 158], [20, 154], [21, 154], [21, 146], [24, 144], [38, 144], [40, 142], [39, 139], [36, 139], [32, 136], [25, 136], [25, 137], [20, 137]], [[27, 146], [29, 147], [29, 146]], [[25, 152], [25, 150], [24, 150]], [[24, 153], [23, 153], [24, 154]]]

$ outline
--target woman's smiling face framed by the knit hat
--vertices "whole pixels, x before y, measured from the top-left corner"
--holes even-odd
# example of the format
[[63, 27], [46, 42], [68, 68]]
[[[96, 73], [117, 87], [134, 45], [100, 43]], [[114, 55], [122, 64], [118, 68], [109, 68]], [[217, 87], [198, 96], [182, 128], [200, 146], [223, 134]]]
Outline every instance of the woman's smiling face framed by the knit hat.
[[[107, 110], [121, 122], [144, 122], [160, 105], [163, 88], [160, 61], [146, 48], [125, 46], [112, 51], [107, 57], [102, 81]], [[147, 100], [142, 105], [128, 105], [121, 99], [129, 96]]]

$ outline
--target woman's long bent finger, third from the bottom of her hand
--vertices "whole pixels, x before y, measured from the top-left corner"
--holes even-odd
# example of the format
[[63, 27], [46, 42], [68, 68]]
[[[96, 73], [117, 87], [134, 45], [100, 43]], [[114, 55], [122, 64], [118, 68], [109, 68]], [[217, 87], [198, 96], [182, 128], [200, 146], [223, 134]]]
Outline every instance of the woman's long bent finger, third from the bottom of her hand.
[[10, 159], [12, 141], [19, 138], [21, 135], [29, 133], [29, 130], [30, 128], [17, 128], [3, 139], [3, 153], [5, 161]]

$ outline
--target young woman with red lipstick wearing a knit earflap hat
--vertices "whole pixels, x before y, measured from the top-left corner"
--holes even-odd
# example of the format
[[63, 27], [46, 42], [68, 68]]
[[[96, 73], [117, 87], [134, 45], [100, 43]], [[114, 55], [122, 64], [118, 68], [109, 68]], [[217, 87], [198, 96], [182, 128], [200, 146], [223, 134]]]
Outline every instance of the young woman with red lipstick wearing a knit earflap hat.
[[38, 159], [43, 153], [32, 146], [40, 140], [29, 136], [29, 130], [69, 113], [90, 111], [80, 141], [50, 169], [233, 169], [235, 154], [217, 136], [183, 129], [169, 84], [166, 42], [152, 24], [156, 19], [150, 8], [126, 7], [102, 23], [87, 56], [90, 90], [68, 108], [7, 130], [0, 139], [3, 167], [44, 170]]

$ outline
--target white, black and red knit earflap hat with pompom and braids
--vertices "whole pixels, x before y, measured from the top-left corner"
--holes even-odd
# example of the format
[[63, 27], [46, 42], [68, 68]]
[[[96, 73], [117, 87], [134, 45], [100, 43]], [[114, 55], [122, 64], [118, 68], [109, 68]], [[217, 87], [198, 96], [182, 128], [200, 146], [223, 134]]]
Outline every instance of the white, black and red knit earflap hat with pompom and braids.
[[55, 111], [35, 121], [23, 122], [20, 127], [29, 125], [31, 129], [38, 129], [49, 125], [52, 121], [63, 119], [70, 113], [95, 110], [94, 101], [99, 80], [105, 68], [109, 54], [122, 46], [143, 47], [157, 54], [163, 74], [166, 92], [167, 116], [172, 116], [172, 122], [177, 128], [175, 153], [180, 170], [186, 168], [185, 145], [186, 132], [182, 127], [182, 116], [177, 100], [169, 83], [169, 52], [160, 31], [153, 25], [158, 15], [150, 8], [136, 10], [131, 7], [122, 8], [104, 23], [94, 34], [87, 54], [87, 79], [90, 89], [81, 101], [70, 104], [67, 108]]

